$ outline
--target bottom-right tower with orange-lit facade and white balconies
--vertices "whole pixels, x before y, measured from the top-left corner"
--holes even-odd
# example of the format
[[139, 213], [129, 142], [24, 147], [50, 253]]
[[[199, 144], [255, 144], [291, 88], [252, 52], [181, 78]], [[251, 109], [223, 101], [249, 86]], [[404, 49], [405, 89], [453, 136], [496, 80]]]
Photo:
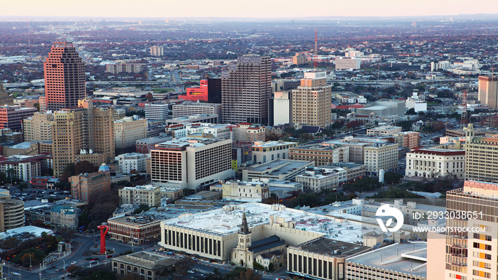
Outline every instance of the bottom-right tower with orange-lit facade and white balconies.
[[[446, 209], [450, 217], [447, 228], [482, 231], [446, 233], [446, 248], [436, 256], [445, 260], [444, 279], [497, 279], [498, 184], [465, 181], [463, 188], [446, 193]], [[434, 272], [433, 279], [435, 274], [438, 272]]]

